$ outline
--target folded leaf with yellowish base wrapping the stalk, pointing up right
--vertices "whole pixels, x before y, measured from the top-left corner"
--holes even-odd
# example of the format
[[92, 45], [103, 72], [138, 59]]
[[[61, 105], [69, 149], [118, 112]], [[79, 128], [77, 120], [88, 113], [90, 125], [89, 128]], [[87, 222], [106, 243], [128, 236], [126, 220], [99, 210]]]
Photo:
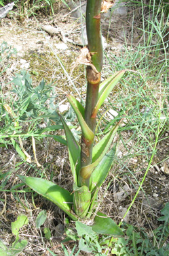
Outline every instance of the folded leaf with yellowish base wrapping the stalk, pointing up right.
[[[86, 178], [86, 175], [91, 175], [94, 168], [99, 164], [99, 162], [102, 160], [102, 158], [107, 153], [107, 150], [109, 149], [113, 138], [115, 137], [115, 134], [117, 132], [117, 129], [119, 128], [119, 124], [121, 123], [122, 119], [116, 124], [116, 126], [105, 135], [102, 140], [100, 140], [93, 149], [93, 158], [92, 158], [92, 164], [87, 165], [86, 167], [82, 167], [80, 172], [81, 176]], [[101, 170], [100, 170], [101, 171]], [[101, 171], [102, 172], [102, 171]]]

